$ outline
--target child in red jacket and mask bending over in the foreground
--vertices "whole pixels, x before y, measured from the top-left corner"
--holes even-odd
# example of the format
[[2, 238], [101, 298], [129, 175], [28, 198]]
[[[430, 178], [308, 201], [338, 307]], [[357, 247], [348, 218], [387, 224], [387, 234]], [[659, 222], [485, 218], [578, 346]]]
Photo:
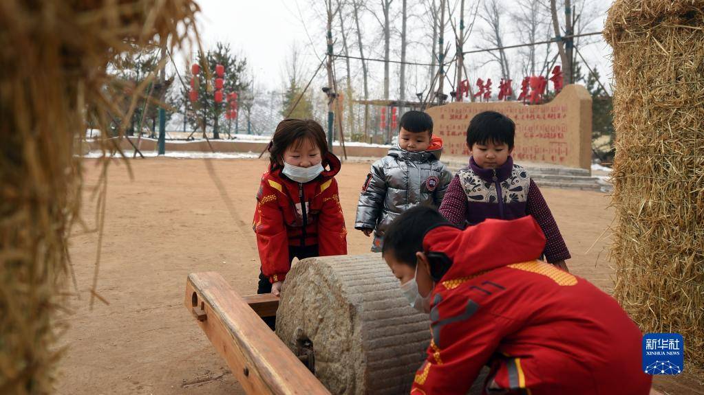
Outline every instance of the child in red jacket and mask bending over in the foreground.
[[578, 276], [536, 259], [545, 236], [532, 216], [464, 231], [430, 207], [386, 231], [386, 263], [432, 341], [411, 394], [647, 395], [641, 331], [621, 306]]

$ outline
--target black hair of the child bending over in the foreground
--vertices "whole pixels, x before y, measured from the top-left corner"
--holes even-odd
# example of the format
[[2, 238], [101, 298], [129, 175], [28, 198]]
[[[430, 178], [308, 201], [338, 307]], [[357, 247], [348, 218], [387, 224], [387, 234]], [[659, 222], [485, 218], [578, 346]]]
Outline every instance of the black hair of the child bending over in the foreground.
[[386, 230], [382, 256], [390, 252], [397, 261], [415, 268], [415, 253], [423, 250], [425, 233], [444, 224], [450, 222], [434, 207], [416, 206], [406, 210]]

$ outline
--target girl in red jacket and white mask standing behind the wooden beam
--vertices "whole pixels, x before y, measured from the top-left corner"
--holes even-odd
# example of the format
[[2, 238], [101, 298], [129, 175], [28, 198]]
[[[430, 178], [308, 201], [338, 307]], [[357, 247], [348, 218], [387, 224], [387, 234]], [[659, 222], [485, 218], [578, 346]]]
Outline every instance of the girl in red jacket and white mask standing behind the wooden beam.
[[258, 293], [279, 295], [294, 257], [347, 254], [347, 231], [325, 131], [310, 119], [279, 122], [257, 193], [253, 228], [261, 261]]

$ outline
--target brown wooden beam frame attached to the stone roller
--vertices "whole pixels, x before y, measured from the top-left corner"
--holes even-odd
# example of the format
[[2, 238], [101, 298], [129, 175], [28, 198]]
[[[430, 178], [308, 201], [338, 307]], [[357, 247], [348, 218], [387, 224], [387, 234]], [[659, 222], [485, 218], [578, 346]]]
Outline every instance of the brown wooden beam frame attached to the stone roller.
[[184, 304], [247, 394], [329, 394], [260, 316], [275, 316], [278, 298], [241, 297], [214, 272], [191, 273]]

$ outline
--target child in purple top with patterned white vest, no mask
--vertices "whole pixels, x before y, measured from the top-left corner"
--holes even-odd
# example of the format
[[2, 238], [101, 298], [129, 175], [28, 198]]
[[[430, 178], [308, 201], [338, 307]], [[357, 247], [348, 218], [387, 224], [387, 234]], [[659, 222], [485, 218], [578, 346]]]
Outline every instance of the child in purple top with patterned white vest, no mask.
[[570, 259], [558, 224], [526, 169], [513, 163], [515, 124], [505, 115], [485, 111], [467, 128], [470, 165], [458, 171], [447, 188], [440, 213], [458, 226], [484, 219], [518, 219], [532, 215], [547, 239], [546, 261], [567, 270]]

